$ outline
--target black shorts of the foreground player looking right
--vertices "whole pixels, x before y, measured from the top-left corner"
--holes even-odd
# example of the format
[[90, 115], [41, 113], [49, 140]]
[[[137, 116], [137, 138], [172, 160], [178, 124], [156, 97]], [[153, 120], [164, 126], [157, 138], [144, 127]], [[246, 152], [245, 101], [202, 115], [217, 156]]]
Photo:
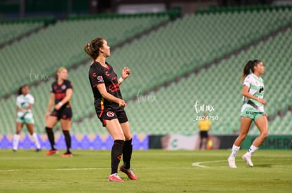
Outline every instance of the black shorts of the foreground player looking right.
[[107, 126], [107, 120], [118, 119], [120, 124], [126, 123], [128, 117], [123, 109], [118, 111], [104, 110], [103, 112], [97, 112], [97, 117], [102, 122], [102, 126]]

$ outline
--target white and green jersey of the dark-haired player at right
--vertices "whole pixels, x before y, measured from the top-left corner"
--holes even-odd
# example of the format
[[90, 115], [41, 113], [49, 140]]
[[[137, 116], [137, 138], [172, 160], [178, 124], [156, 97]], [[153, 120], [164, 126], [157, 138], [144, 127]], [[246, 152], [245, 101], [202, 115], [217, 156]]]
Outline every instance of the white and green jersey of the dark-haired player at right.
[[[257, 77], [253, 73], [248, 74], [243, 81], [243, 85], [248, 86], [248, 92], [251, 95], [257, 98], [264, 98], [264, 81], [261, 77]], [[243, 107], [241, 108], [241, 112], [243, 112], [246, 107], [251, 107], [258, 112], [264, 112], [264, 105], [262, 105], [262, 103], [243, 96]]]

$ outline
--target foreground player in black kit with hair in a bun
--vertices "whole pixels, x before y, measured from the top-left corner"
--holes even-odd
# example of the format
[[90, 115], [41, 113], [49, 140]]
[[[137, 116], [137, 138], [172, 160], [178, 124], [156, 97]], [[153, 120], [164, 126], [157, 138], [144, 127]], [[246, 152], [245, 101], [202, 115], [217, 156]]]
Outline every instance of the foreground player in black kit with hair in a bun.
[[113, 67], [105, 60], [110, 56], [110, 47], [103, 38], [97, 38], [84, 46], [87, 55], [92, 58], [89, 69], [89, 79], [95, 98], [95, 111], [102, 125], [114, 139], [111, 148], [111, 175], [108, 180], [123, 182], [118, 175], [118, 164], [123, 154], [123, 165], [120, 170], [128, 175], [131, 180], [137, 180], [137, 176], [130, 168], [132, 155], [132, 135], [124, 107], [120, 85], [130, 75], [130, 69], [124, 67], [121, 78], [118, 79]]

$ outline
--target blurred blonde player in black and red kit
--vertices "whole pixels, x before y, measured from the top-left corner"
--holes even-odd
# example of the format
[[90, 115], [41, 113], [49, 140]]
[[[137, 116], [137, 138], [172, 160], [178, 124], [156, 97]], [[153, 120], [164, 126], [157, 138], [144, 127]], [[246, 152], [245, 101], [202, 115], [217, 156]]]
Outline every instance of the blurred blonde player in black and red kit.
[[[62, 154], [61, 157], [72, 157], [71, 152], [71, 95], [73, 93], [73, 87], [71, 81], [67, 80], [68, 71], [65, 67], [60, 67], [56, 72], [56, 81], [51, 84], [51, 98], [49, 99], [49, 105], [47, 107], [47, 113], [45, 119], [47, 120], [46, 132], [51, 144], [51, 150], [46, 153], [47, 156], [58, 153], [55, 147], [55, 139], [53, 129], [56, 123], [61, 120], [61, 128], [65, 136], [65, 142], [67, 151]], [[51, 108], [54, 106], [53, 112]], [[50, 114], [51, 112], [51, 114]]]

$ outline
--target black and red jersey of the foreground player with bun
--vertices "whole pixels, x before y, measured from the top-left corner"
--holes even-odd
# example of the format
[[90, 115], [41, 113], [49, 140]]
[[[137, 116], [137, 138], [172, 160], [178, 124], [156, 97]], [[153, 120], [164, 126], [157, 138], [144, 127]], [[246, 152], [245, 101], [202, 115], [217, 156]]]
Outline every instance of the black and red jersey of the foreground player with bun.
[[104, 84], [108, 93], [116, 98], [122, 98], [118, 76], [114, 72], [113, 67], [107, 62], [106, 64], [107, 67], [103, 67], [99, 62], [93, 62], [89, 69], [90, 85], [95, 97], [95, 108], [98, 112], [102, 112], [104, 109], [118, 110], [120, 107], [118, 103], [103, 98], [97, 89], [97, 84]]

